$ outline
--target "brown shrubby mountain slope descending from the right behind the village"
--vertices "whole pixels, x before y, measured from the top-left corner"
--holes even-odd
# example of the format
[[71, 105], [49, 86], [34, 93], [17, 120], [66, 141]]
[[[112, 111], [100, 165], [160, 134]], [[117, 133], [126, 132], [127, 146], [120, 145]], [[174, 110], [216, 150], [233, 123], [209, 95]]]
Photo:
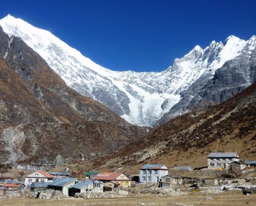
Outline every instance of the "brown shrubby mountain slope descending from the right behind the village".
[[126, 172], [144, 163], [200, 167], [207, 165], [207, 155], [212, 151], [235, 151], [241, 158], [255, 160], [255, 117], [253, 83], [220, 105], [175, 117], [156, 127], [144, 139], [112, 155], [103, 167], [123, 167]]

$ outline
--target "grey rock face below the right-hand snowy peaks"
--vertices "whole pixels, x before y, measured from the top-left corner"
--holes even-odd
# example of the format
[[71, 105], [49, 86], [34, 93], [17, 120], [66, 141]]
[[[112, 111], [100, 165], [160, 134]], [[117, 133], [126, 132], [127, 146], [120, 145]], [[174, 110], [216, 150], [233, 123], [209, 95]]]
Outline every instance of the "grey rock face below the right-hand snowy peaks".
[[213, 78], [209, 79], [209, 74], [204, 74], [193, 82], [182, 94], [180, 101], [170, 112], [163, 115], [158, 124], [167, 122], [180, 111], [184, 113], [220, 104], [256, 82], [255, 45], [256, 37], [253, 36], [239, 52], [239, 56], [225, 62], [215, 71]]

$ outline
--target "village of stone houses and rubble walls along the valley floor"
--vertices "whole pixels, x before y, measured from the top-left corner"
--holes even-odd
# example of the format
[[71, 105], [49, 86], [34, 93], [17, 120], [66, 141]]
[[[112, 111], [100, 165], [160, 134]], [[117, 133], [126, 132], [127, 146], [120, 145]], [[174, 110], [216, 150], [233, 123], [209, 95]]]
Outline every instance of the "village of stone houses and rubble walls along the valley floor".
[[19, 180], [2, 180], [0, 199], [182, 196], [229, 191], [239, 191], [244, 195], [256, 193], [256, 161], [243, 160], [236, 152], [212, 152], [206, 158], [205, 167], [168, 168], [162, 164], [144, 164], [134, 171], [137, 175], [93, 170], [84, 172], [85, 179], [72, 177], [68, 168], [65, 171], [46, 171], [43, 167], [19, 164], [16, 169], [30, 173]]

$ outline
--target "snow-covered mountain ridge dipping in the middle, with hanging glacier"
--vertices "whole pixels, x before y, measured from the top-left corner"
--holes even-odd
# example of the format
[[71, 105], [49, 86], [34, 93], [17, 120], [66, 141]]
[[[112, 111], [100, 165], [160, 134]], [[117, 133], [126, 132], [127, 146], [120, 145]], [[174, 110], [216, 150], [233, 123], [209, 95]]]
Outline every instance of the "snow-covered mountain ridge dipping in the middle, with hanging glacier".
[[[49, 31], [21, 19], [7, 15], [0, 25], [9, 36], [18, 36], [33, 48], [69, 87], [98, 100], [128, 122], [145, 126], [155, 125], [164, 114], [171, 112], [170, 118], [189, 111], [191, 102], [203, 98], [198, 94], [217, 70], [237, 57], [250, 59], [256, 45], [255, 36], [248, 41], [230, 36], [224, 44], [213, 41], [204, 49], [195, 46], [160, 73], [115, 72], [84, 57]], [[247, 76], [244, 86], [254, 81]]]

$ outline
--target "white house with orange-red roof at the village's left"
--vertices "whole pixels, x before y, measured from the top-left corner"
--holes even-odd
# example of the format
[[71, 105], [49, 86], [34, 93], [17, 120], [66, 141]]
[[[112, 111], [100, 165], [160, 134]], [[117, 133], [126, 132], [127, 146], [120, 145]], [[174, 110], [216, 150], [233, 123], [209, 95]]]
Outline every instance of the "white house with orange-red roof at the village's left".
[[35, 171], [25, 177], [25, 185], [31, 185], [33, 182], [52, 182], [53, 176], [46, 171]]

